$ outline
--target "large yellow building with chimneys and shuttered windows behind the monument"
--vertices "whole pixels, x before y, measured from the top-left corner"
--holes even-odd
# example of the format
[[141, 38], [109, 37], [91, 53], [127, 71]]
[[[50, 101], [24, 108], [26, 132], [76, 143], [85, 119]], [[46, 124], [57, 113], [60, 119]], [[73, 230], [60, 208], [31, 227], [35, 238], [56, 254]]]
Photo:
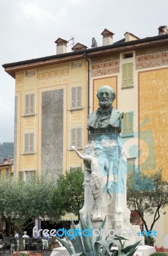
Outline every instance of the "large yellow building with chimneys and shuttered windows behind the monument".
[[[66, 52], [56, 40], [56, 55], [4, 64], [15, 78], [14, 175], [27, 180], [49, 171], [53, 177], [82, 165], [71, 146], [83, 150], [88, 141], [88, 114], [98, 108], [96, 93], [108, 84], [116, 91], [114, 107], [124, 112], [121, 138], [128, 154], [128, 172], [167, 173], [168, 33], [139, 39], [132, 33], [113, 43], [102, 32], [103, 46], [79, 44]], [[158, 244], [168, 234], [167, 214]]]

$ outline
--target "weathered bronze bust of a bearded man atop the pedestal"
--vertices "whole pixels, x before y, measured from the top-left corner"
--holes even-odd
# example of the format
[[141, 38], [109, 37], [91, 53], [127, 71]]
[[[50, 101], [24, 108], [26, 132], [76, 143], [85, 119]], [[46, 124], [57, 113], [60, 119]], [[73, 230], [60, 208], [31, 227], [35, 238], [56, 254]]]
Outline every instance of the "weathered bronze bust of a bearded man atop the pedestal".
[[116, 93], [108, 86], [102, 86], [98, 92], [98, 108], [89, 115], [88, 130], [90, 133], [121, 132], [121, 119], [123, 112], [112, 107]]

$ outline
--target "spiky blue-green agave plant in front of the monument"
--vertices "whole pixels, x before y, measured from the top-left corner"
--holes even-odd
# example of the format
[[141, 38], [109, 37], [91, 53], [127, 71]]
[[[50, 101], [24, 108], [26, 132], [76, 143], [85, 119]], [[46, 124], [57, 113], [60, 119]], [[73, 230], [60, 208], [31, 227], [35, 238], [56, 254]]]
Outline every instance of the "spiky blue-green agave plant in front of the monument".
[[[105, 227], [105, 220], [102, 222], [102, 225], [100, 226], [99, 230], [101, 228], [103, 229]], [[80, 228], [81, 230], [91, 230], [92, 223], [91, 219], [89, 218], [89, 215], [87, 216], [86, 223], [85, 221], [80, 217]], [[75, 234], [75, 224], [72, 221], [72, 229]], [[70, 236], [68, 236], [70, 238]], [[137, 245], [140, 243], [138, 241], [137, 243], [125, 247], [125, 241], [128, 239], [125, 239], [125, 237], [121, 236], [114, 236], [113, 239], [106, 239], [102, 238], [101, 232], [100, 235], [97, 237], [89, 237], [89, 236], [75, 236], [71, 242], [73, 245], [73, 248], [70, 247], [68, 243], [57, 237], [57, 240], [60, 241], [63, 246], [68, 250], [70, 255], [72, 256], [119, 256], [119, 255], [126, 255], [126, 256], [133, 256], [135, 251], [137, 250]], [[111, 250], [112, 246], [118, 246], [118, 250]]]

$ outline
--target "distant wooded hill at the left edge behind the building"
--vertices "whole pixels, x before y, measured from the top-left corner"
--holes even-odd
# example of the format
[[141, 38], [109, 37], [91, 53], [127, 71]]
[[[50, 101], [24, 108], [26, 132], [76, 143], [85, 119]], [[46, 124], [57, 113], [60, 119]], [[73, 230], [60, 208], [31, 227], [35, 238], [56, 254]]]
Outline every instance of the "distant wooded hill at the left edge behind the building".
[[0, 143], [0, 163], [3, 162], [4, 157], [8, 160], [13, 158], [14, 154], [14, 143], [13, 142], [4, 142]]

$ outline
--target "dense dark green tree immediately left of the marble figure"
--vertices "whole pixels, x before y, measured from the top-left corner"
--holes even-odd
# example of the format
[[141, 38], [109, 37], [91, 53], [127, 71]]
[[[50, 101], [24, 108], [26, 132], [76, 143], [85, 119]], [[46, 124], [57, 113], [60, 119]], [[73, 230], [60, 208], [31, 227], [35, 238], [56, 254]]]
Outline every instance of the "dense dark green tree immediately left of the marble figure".
[[84, 173], [81, 168], [59, 175], [56, 189], [50, 198], [50, 205], [54, 209], [52, 215], [61, 218], [66, 213], [73, 212], [79, 220], [79, 210], [84, 204], [83, 182]]

